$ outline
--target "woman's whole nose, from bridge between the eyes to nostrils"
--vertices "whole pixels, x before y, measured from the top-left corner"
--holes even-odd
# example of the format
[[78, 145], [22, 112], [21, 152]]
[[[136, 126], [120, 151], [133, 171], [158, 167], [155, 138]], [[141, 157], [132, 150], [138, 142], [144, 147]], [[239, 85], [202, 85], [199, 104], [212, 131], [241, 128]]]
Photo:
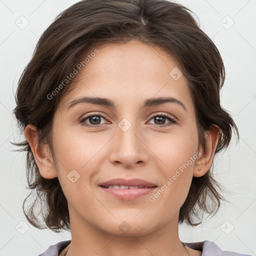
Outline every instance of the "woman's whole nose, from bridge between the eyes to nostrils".
[[125, 167], [137, 162], [146, 162], [146, 146], [142, 142], [140, 129], [137, 128], [136, 117], [124, 117], [117, 125], [110, 160], [121, 162]]

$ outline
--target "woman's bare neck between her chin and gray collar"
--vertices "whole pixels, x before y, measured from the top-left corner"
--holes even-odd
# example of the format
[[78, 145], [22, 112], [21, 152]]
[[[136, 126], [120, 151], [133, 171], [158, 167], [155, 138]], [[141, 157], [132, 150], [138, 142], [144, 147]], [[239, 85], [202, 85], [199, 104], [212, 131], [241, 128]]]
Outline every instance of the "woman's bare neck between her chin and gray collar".
[[[173, 217], [173, 221], [159, 229], [144, 234], [132, 233], [130, 229], [126, 234], [121, 235], [120, 232], [107, 233], [99, 230], [85, 222], [84, 219], [80, 219], [79, 216], [72, 214], [69, 216], [73, 216], [73, 218], [70, 217], [72, 238], [69, 247], [65, 250], [67, 252], [65, 256], [98, 256], [101, 254], [119, 256], [120, 252], [122, 256], [189, 255], [178, 237], [178, 214]], [[64, 256], [64, 253], [62, 255]]]

